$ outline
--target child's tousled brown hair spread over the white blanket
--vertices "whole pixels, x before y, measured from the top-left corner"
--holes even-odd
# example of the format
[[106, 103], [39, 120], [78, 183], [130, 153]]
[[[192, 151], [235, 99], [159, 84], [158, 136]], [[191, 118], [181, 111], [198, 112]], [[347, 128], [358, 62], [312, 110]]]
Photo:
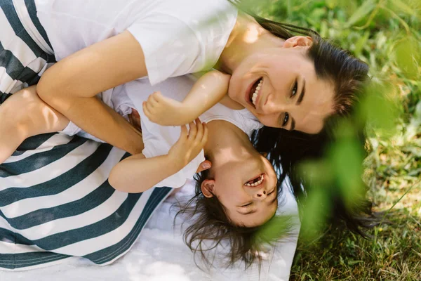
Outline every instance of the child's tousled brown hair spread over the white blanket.
[[[183, 204], [178, 215], [183, 216], [183, 221], [192, 221], [184, 233], [187, 246], [199, 254], [207, 266], [212, 266], [215, 260], [215, 252], [212, 250], [222, 242], [225, 250], [224, 261], [226, 266], [232, 266], [236, 261], [243, 261], [245, 267], [250, 266], [254, 261], [259, 265], [262, 261], [261, 251], [266, 245], [273, 244], [280, 237], [290, 234], [292, 220], [290, 216], [273, 216], [265, 225], [255, 227], [238, 226], [232, 223], [226, 214], [225, 207], [218, 200], [217, 196], [205, 197], [201, 192], [201, 183], [210, 179], [211, 169], [196, 174], [195, 196]], [[277, 194], [281, 190], [278, 183]], [[278, 196], [278, 200], [281, 198]], [[276, 233], [267, 228], [279, 226], [281, 229]], [[196, 256], [195, 256], [196, 257]]]

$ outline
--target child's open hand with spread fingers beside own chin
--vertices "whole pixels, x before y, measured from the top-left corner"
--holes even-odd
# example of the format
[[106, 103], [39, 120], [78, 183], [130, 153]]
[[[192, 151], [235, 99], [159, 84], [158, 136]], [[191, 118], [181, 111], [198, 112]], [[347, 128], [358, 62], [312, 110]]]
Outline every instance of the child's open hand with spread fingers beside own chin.
[[198, 118], [195, 122], [189, 123], [188, 133], [187, 127], [181, 126], [180, 138], [168, 152], [168, 157], [178, 169], [182, 169], [199, 155], [206, 141], [208, 141], [208, 127]]

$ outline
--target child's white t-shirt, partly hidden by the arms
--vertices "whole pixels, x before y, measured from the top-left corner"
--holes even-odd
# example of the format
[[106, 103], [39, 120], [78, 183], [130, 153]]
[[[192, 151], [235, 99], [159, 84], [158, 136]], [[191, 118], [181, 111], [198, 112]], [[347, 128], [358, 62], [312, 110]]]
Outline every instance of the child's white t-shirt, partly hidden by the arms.
[[[191, 75], [185, 75], [166, 79], [166, 81], [155, 86], [149, 84], [146, 79], [131, 81], [123, 86], [123, 91], [131, 98], [135, 108], [139, 109], [143, 142], [145, 143], [145, 149], [142, 152], [145, 157], [166, 155], [173, 144], [178, 141], [181, 129], [180, 126], [160, 126], [150, 122], [141, 110], [143, 101], [147, 100], [148, 96], [154, 91], [161, 91], [163, 95], [168, 95], [175, 100], [181, 101], [185, 98], [189, 90], [192, 89], [195, 81], [196, 79]], [[211, 107], [210, 110], [203, 113], [199, 118], [201, 122], [210, 122], [212, 120], [231, 122], [246, 132], [248, 136], [254, 130], [262, 127], [262, 124], [248, 110], [231, 110], [220, 103]], [[166, 178], [156, 186], [171, 186], [173, 188], [182, 186], [187, 178], [194, 176], [199, 164], [204, 160], [204, 153], [201, 150], [192, 162], [187, 164], [177, 174]]]

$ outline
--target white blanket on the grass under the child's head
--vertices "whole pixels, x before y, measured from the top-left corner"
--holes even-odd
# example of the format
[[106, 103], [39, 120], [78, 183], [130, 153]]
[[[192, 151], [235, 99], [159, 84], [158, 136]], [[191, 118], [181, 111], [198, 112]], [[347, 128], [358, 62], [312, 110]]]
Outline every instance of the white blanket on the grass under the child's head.
[[[293, 234], [280, 241], [264, 256], [262, 268], [253, 265], [247, 270], [241, 263], [232, 268], [199, 269], [192, 252], [182, 240], [178, 217], [175, 227], [173, 220], [176, 209], [171, 208], [177, 199], [192, 194], [193, 182], [187, 184], [156, 209], [147, 226], [140, 234], [128, 254], [109, 266], [97, 266], [86, 259], [65, 259], [47, 268], [21, 272], [0, 271], [0, 281], [201, 281], [201, 280], [261, 280], [286, 281], [289, 279], [290, 266], [300, 230], [299, 223], [293, 227]], [[297, 217], [298, 208], [293, 195], [284, 188], [286, 197], [279, 207], [282, 214]], [[200, 261], [199, 261], [200, 262]]]

